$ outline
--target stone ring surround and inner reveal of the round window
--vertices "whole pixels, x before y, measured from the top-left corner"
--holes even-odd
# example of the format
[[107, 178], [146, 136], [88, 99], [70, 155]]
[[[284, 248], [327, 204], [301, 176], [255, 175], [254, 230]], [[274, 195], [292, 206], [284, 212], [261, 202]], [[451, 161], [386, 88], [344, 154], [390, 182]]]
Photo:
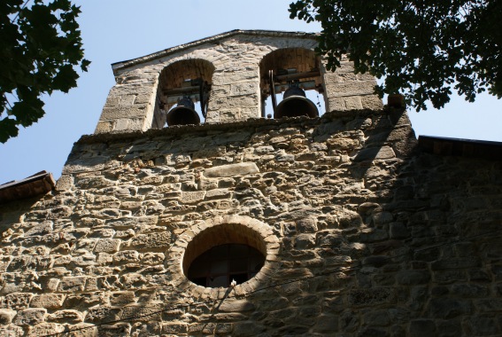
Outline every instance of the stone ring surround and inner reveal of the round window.
[[243, 284], [235, 286], [236, 294], [245, 294], [258, 289], [260, 285], [263, 286], [266, 279], [274, 272], [274, 264], [279, 254], [279, 239], [269, 225], [249, 216], [218, 216], [197, 223], [181, 233], [167, 253], [166, 259], [174, 284], [182, 285], [185, 292], [196, 297], [209, 294], [211, 298], [218, 298], [220, 288], [197, 286], [186, 277], [186, 270], [189, 268], [189, 263], [200, 253], [210, 247], [229, 242], [247, 244], [265, 255], [265, 263], [259, 273]]

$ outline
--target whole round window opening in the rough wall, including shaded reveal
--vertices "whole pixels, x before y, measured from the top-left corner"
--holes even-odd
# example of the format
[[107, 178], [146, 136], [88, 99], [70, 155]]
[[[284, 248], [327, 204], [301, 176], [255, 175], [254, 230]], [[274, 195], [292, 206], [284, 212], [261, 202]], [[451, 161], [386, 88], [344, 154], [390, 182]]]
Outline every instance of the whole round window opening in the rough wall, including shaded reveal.
[[189, 241], [182, 269], [199, 286], [228, 287], [253, 278], [266, 262], [266, 242], [259, 231], [222, 223], [200, 231]]

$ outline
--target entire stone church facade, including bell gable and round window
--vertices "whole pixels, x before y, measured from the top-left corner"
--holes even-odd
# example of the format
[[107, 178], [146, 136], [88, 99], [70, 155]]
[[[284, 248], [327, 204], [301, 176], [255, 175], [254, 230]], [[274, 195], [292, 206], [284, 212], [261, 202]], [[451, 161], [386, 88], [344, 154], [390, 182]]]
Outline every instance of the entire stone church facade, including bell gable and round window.
[[315, 46], [235, 30], [112, 65], [56, 190], [0, 205], [0, 335], [499, 335], [502, 166], [420, 153]]

